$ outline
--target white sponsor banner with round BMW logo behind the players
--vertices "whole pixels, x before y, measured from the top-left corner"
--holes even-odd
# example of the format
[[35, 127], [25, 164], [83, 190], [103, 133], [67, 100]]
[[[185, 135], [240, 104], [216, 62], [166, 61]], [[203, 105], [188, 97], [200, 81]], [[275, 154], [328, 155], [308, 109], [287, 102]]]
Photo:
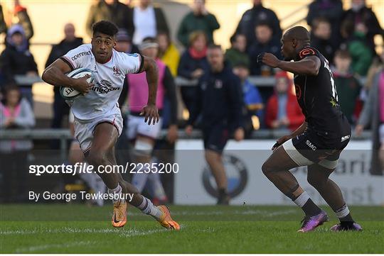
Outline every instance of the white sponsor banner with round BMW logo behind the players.
[[[270, 156], [274, 140], [228, 142], [223, 162], [228, 177], [231, 204], [292, 204], [264, 174], [262, 164]], [[350, 205], [383, 205], [384, 177], [370, 174], [371, 143], [351, 141], [341, 153], [338, 166], [330, 178], [343, 191]], [[202, 140], [178, 140], [175, 174], [175, 204], [215, 204], [215, 179], [204, 158]], [[326, 204], [319, 193], [306, 182], [306, 167], [292, 169], [299, 184], [317, 204]]]

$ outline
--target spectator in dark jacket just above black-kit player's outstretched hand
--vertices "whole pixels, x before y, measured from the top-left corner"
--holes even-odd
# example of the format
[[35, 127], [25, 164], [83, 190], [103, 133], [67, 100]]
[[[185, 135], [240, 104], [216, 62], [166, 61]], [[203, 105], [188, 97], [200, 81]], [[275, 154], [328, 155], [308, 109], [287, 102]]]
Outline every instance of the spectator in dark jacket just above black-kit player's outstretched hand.
[[250, 56], [250, 73], [252, 75], [270, 76], [273, 74], [273, 70], [270, 67], [257, 62], [257, 55], [260, 55], [260, 53], [270, 52], [277, 58], [282, 58], [280, 41], [273, 38], [272, 33], [273, 31], [269, 23], [260, 22], [255, 27], [256, 40], [254, 40], [255, 43], [253, 43], [248, 50]]

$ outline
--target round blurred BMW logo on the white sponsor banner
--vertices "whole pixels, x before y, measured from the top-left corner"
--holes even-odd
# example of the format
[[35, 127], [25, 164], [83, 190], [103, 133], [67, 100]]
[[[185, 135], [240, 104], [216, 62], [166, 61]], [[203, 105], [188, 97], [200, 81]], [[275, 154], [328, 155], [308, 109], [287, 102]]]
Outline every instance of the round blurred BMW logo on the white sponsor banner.
[[[223, 163], [228, 178], [228, 194], [231, 198], [234, 198], [235, 196], [241, 194], [247, 186], [247, 166], [244, 162], [242, 162], [242, 160], [234, 155], [223, 155]], [[218, 197], [215, 178], [210, 172], [208, 166], [204, 167], [202, 178], [203, 186], [208, 194], [213, 197]]]

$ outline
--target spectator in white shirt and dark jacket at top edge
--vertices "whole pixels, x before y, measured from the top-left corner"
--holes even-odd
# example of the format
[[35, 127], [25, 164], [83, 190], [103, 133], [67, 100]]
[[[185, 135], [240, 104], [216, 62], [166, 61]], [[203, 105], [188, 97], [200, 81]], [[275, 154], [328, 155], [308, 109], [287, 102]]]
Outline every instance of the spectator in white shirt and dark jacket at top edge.
[[152, 0], [140, 0], [133, 11], [134, 36], [133, 43], [139, 45], [146, 37], [156, 37], [159, 31], [169, 33], [164, 12], [154, 7]]

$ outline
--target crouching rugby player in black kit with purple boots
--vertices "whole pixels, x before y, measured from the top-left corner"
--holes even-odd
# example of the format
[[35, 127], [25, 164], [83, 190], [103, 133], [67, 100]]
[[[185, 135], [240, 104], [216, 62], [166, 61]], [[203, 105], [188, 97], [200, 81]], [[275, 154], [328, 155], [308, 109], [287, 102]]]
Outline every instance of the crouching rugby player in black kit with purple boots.
[[277, 140], [272, 155], [262, 165], [262, 172], [304, 211], [299, 232], [314, 230], [328, 221], [326, 212], [314, 204], [289, 172], [299, 166], [308, 166], [309, 184], [319, 191], [339, 218], [340, 223], [331, 230], [362, 230], [353, 221], [340, 188], [329, 179], [341, 150], [351, 138], [351, 127], [338, 105], [329, 63], [318, 50], [311, 48], [309, 42], [308, 30], [297, 26], [282, 37], [284, 61], [270, 53], [257, 57], [258, 62], [294, 73], [297, 101], [306, 117], [302, 126], [291, 135]]

